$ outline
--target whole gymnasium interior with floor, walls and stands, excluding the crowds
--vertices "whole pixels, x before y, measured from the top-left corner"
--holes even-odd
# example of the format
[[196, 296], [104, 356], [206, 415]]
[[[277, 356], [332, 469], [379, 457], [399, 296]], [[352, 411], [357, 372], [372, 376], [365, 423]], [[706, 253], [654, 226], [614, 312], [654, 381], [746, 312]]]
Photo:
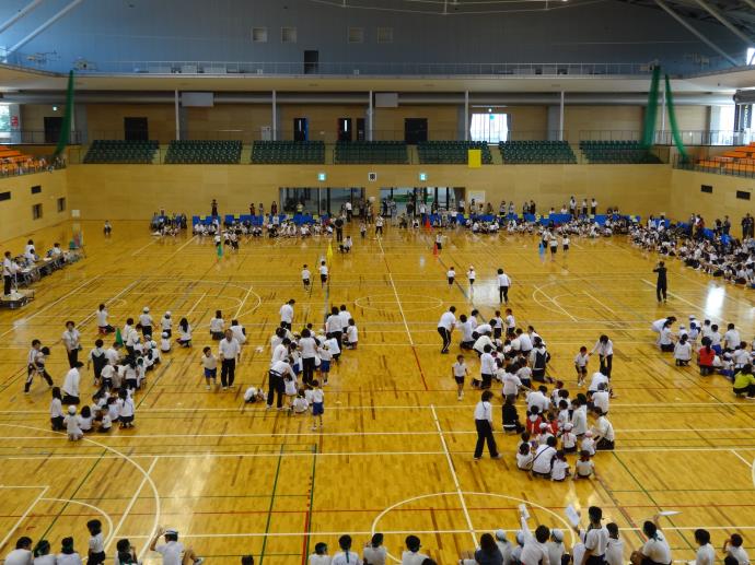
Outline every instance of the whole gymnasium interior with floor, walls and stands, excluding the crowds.
[[[161, 563], [150, 544], [165, 529], [186, 565], [189, 549], [211, 564], [306, 564], [342, 535], [361, 558], [375, 533], [384, 563], [422, 563], [403, 557], [417, 535], [425, 563], [474, 564], [483, 534], [515, 546], [524, 516], [560, 531], [568, 564], [574, 513], [584, 529], [592, 506], [617, 525], [622, 563], [659, 513], [674, 563], [695, 562], [698, 529], [717, 562], [732, 535], [752, 555], [755, 402], [735, 376], [700, 375], [699, 340], [676, 364], [653, 323], [675, 317], [675, 342], [692, 317], [721, 336], [733, 323], [755, 358], [754, 105], [753, 0], [3, 0], [1, 251], [23, 263], [33, 243], [38, 257], [8, 271], [0, 301], [0, 560], [27, 537], [50, 554], [73, 538], [86, 561], [96, 519], [108, 564], [119, 540]], [[348, 250], [328, 232], [341, 214]], [[237, 228], [237, 245], [197, 225]], [[666, 237], [659, 225], [674, 252], [648, 244]], [[692, 246], [702, 259], [685, 260]], [[716, 264], [732, 246], [730, 276]], [[297, 336], [341, 305], [359, 328], [322, 387], [318, 428], [245, 399], [268, 392], [290, 299]], [[98, 331], [101, 304], [117, 333]], [[480, 361], [456, 330], [440, 353], [451, 306], [531, 326], [548, 395], [558, 380], [588, 393], [574, 355], [611, 338], [616, 447], [594, 455], [593, 476], [519, 469], [496, 380], [501, 458], [473, 458]], [[144, 308], [155, 326], [172, 314], [173, 341], [132, 395], [135, 426], [77, 442], [51, 429], [33, 340], [61, 386], [68, 320], [86, 364]], [[245, 328], [228, 390], [202, 373], [216, 310]], [[190, 348], [175, 341], [182, 318]], [[97, 389], [82, 367], [74, 412]], [[523, 390], [515, 405], [524, 422]]]

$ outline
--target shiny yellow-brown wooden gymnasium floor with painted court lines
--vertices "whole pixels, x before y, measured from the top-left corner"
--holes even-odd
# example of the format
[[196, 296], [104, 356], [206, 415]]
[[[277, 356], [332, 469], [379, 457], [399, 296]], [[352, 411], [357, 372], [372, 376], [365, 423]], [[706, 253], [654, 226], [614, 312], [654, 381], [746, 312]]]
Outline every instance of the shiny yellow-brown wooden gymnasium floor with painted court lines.
[[[44, 535], [54, 548], [73, 534], [85, 553], [85, 521], [101, 517], [108, 557], [115, 540], [128, 537], [154, 561], [146, 544], [163, 525], [177, 528], [212, 563], [234, 563], [246, 553], [259, 563], [301, 563], [315, 542], [327, 542], [333, 553], [339, 534], [350, 532], [361, 546], [378, 530], [386, 532], [394, 555], [406, 534], [418, 533], [425, 550], [449, 564], [473, 546], [473, 532], [515, 529], [522, 502], [531, 505], [533, 527], [566, 528], [570, 503], [602, 506], [622, 527], [627, 556], [641, 542], [637, 527], [662, 509], [682, 511], [664, 523], [675, 560], [694, 557], [697, 527], [710, 529], [717, 546], [734, 530], [746, 546], [755, 545], [755, 403], [732, 398], [722, 377], [704, 380], [693, 367], [675, 368], [649, 331], [661, 316], [683, 320], [694, 313], [736, 322], [750, 342], [752, 292], [673, 263], [671, 299], [659, 307], [655, 257], [624, 238], [578, 239], [568, 258], [559, 252], [556, 261], [543, 262], [534, 237], [460, 232], [448, 234], [437, 259], [427, 234], [388, 228], [382, 243], [362, 244], [356, 234], [351, 256], [335, 254], [329, 289], [317, 284], [306, 294], [299, 272], [325, 254], [324, 238], [254, 240], [218, 261], [209, 242], [159, 240], [146, 222], [116, 223], [109, 240], [100, 223], [84, 223], [84, 261], [45, 279], [25, 309], [0, 313], [2, 555], [21, 534]], [[47, 249], [69, 236], [70, 226], [59, 226], [34, 237], [38, 249]], [[453, 287], [445, 282], [450, 264], [460, 273]], [[474, 294], [464, 276], [469, 264], [478, 274]], [[592, 346], [602, 332], [614, 340], [617, 449], [595, 458], [595, 481], [530, 479], [515, 469], [516, 438], [500, 432], [504, 459], [472, 460], [478, 395], [467, 391], [456, 400], [453, 355], [439, 354], [435, 323], [452, 304], [460, 314], [473, 304], [486, 317], [492, 314], [499, 266], [513, 278], [516, 319], [544, 336], [554, 357], [550, 375], [572, 390], [578, 348]], [[297, 299], [298, 327], [345, 303], [361, 330], [359, 350], [346, 352], [326, 388], [322, 433], [310, 431], [309, 417], [243, 403], [245, 387], [265, 381], [266, 344], [290, 297]], [[33, 338], [53, 344], [49, 368], [60, 382], [63, 322], [83, 326], [88, 352], [100, 302], [116, 325], [146, 305], [156, 316], [172, 310], [176, 321], [186, 315], [195, 346], [174, 350], [151, 374], [137, 397], [133, 431], [71, 444], [49, 431], [47, 387], [35, 382], [31, 396], [22, 393], [24, 360]], [[207, 392], [199, 365], [217, 308], [226, 319], [240, 318], [249, 336], [241, 387], [229, 393]], [[477, 360], [467, 360], [476, 372]], [[82, 382], [86, 396], [89, 373]]]

